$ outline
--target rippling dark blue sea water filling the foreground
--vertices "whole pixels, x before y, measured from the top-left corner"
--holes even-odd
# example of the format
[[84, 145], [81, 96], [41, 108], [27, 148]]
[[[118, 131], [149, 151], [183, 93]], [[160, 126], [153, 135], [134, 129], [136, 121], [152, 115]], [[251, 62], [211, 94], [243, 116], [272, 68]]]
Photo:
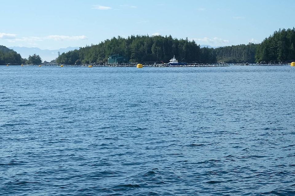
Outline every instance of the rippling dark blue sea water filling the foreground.
[[291, 66], [0, 66], [0, 195], [295, 195]]

